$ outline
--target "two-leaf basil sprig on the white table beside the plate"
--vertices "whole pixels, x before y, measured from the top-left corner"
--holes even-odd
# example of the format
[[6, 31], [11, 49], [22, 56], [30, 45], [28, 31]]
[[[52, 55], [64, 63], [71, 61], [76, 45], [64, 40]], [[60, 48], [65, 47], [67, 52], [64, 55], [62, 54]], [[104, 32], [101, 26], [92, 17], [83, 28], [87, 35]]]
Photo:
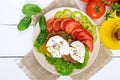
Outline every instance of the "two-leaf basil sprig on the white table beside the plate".
[[30, 26], [32, 16], [40, 13], [41, 8], [36, 4], [25, 4], [22, 8], [22, 12], [25, 17], [21, 19], [17, 25], [19, 31], [23, 31]]

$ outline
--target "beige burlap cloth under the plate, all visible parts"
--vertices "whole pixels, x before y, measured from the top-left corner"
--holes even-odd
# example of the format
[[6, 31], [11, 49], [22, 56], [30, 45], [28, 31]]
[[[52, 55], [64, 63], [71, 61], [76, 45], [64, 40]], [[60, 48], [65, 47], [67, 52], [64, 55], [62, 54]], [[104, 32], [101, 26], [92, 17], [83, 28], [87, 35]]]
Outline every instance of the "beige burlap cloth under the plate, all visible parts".
[[[43, 9], [41, 14], [57, 7], [74, 7], [78, 8], [74, 0], [54, 0], [47, 8]], [[33, 18], [33, 25], [36, 24], [39, 16]], [[72, 80], [88, 80], [97, 73], [111, 60], [111, 51], [100, 45], [99, 54], [94, 63], [84, 72], [70, 76]], [[32, 50], [18, 63], [19, 67], [26, 73], [31, 80], [56, 80], [59, 76], [45, 70], [36, 60]]]

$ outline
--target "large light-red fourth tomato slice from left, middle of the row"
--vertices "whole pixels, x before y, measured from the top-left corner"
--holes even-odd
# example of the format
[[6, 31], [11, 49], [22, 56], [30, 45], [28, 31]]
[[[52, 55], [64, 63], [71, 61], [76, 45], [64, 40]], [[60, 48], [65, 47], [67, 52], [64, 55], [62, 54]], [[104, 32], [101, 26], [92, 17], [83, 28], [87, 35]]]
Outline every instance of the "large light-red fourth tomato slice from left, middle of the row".
[[69, 21], [65, 25], [65, 31], [68, 34], [71, 34], [71, 32], [76, 28], [81, 28], [81, 24], [77, 21]]

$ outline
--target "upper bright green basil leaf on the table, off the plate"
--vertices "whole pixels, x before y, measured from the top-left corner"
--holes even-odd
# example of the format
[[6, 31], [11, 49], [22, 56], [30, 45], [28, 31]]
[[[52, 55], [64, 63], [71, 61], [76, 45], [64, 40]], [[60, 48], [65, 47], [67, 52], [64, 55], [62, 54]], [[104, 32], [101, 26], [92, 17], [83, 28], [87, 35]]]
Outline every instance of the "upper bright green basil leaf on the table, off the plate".
[[41, 8], [36, 4], [26, 4], [22, 8], [22, 12], [27, 16], [32, 16], [41, 12]]

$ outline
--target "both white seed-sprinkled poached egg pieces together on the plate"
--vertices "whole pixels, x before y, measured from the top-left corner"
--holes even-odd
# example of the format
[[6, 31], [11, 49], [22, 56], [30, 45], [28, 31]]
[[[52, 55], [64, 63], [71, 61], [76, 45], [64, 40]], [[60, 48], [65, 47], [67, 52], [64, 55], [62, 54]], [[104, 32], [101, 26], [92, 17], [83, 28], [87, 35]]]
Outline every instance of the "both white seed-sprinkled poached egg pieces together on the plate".
[[77, 62], [83, 63], [85, 57], [85, 46], [80, 41], [73, 41], [70, 45], [59, 35], [49, 38], [46, 44], [48, 52], [53, 57], [61, 58], [62, 55], [69, 55]]

